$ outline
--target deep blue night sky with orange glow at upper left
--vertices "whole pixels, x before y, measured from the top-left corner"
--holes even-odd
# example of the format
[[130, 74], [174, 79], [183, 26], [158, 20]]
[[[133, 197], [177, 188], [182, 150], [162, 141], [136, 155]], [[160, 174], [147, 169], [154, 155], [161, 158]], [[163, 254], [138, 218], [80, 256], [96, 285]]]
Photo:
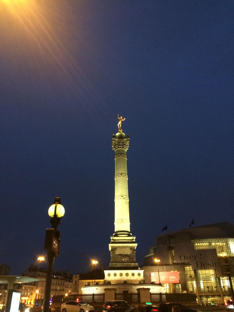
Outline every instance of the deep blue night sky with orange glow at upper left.
[[[168, 231], [234, 223], [234, 2], [0, 0], [0, 263], [108, 268], [117, 114], [137, 261]], [[42, 264], [41, 264], [42, 267]], [[100, 267], [100, 266], [99, 266]]]

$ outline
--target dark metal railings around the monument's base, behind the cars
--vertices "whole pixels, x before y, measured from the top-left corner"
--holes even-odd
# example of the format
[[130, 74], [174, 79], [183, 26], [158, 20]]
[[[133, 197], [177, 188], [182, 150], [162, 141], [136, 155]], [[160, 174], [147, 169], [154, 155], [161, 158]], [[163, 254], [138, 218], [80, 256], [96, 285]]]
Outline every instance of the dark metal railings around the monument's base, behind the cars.
[[[85, 303], [102, 304], [105, 302], [105, 294], [80, 294], [80, 295], [69, 295], [53, 296], [52, 304], [62, 304], [67, 301], [77, 300], [84, 301]], [[152, 303], [159, 302], [180, 302], [180, 303], [196, 303], [195, 294], [153, 294], [150, 293], [150, 301]], [[125, 300], [131, 303], [140, 303], [140, 294], [115, 294], [115, 300]]]

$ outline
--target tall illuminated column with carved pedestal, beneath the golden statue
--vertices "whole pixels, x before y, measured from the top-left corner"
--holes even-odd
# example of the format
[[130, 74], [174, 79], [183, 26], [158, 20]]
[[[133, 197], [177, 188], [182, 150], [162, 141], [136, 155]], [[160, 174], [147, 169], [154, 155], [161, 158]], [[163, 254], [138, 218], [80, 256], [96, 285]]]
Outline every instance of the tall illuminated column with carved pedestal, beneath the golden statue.
[[115, 151], [115, 233], [111, 236], [109, 250], [110, 268], [138, 268], [135, 236], [130, 233], [127, 156], [129, 136], [122, 129], [112, 136]]

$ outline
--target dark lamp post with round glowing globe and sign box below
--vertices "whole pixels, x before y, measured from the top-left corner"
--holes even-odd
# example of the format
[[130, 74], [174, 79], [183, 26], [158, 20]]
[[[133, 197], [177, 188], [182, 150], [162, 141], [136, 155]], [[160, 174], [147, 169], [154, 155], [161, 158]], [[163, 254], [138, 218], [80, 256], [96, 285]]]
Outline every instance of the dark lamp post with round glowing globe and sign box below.
[[51, 290], [51, 280], [53, 273], [54, 257], [59, 255], [60, 232], [57, 230], [61, 218], [64, 216], [65, 209], [61, 205], [60, 197], [56, 197], [53, 205], [50, 206], [48, 214], [51, 217], [51, 229], [46, 229], [46, 238], [44, 248], [48, 256], [48, 268], [46, 274], [46, 288], [43, 300], [43, 312], [49, 312], [49, 300]]

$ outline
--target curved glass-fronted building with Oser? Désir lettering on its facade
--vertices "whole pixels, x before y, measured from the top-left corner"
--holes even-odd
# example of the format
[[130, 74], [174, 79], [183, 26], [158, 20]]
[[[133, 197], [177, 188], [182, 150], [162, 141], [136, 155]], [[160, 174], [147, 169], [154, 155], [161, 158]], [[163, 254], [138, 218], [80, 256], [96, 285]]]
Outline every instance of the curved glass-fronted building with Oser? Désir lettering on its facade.
[[[160, 259], [155, 266], [154, 259]], [[231, 297], [230, 280], [224, 270], [228, 261], [234, 282], [234, 225], [220, 222], [190, 227], [155, 238], [144, 257], [145, 282], [164, 283], [166, 292], [194, 293], [198, 303], [221, 303]], [[166, 272], [174, 271], [174, 280]], [[167, 280], [166, 280], [167, 278]], [[200, 301], [200, 302], [199, 302]]]

